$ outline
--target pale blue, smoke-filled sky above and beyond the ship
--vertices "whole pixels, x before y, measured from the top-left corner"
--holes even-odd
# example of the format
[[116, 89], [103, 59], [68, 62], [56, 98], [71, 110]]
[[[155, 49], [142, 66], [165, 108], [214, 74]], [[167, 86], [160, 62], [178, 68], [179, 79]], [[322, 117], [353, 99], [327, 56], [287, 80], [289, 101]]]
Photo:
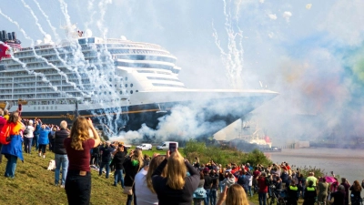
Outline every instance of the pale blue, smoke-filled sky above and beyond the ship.
[[126, 36], [165, 47], [177, 56], [179, 78], [189, 88], [277, 91], [278, 97], [254, 111], [272, 138], [332, 133], [349, 138], [364, 131], [364, 1], [2, 3], [0, 29], [17, 32], [23, 46], [31, 41], [22, 30], [33, 40], [43, 39], [39, 24], [55, 40], [65, 36], [60, 27], [70, 22], [94, 36]]

